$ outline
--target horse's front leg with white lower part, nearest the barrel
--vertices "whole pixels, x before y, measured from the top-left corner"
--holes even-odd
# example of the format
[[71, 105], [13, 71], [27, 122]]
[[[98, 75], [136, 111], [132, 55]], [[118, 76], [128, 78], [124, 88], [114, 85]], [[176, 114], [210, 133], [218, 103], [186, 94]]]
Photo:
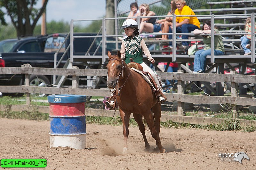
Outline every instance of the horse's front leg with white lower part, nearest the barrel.
[[131, 113], [124, 113], [124, 111], [119, 108], [119, 112], [120, 112], [120, 116], [123, 122], [123, 134], [124, 134], [124, 150], [123, 150], [123, 154], [127, 154], [127, 150], [128, 150], [128, 144], [127, 144], [127, 138], [129, 136], [129, 122], [130, 122], [130, 116]]

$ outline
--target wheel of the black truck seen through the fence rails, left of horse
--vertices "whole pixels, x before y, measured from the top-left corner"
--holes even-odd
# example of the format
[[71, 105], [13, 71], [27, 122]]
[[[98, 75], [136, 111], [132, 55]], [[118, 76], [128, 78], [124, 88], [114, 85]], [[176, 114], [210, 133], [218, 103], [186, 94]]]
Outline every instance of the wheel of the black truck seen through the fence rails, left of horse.
[[[29, 78], [29, 85], [30, 86], [38, 86], [38, 87], [47, 87], [50, 86], [49, 79], [44, 75], [31, 75]], [[45, 93], [31, 93], [31, 95], [38, 95], [38, 97], [44, 97]]]

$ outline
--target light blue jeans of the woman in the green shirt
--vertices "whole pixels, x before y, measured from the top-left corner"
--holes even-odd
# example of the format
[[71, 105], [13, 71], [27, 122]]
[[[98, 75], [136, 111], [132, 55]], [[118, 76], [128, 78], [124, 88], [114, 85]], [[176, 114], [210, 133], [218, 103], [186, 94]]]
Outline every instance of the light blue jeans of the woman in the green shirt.
[[[214, 50], [214, 55], [223, 55], [224, 52], [215, 49]], [[196, 51], [195, 53], [195, 58], [194, 58], [194, 71], [200, 71], [202, 70], [203, 72], [206, 69], [206, 55], [211, 55], [211, 49], [200, 49]]]

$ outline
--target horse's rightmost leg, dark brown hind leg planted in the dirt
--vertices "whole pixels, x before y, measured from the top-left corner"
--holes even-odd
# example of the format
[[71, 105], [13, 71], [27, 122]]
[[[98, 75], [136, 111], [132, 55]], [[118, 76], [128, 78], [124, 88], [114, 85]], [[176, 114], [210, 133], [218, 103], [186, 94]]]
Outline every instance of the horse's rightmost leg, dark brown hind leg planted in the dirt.
[[[157, 147], [158, 147], [159, 151], [161, 153], [166, 152], [165, 149], [163, 148], [162, 144], [161, 144], [160, 137], [159, 137], [159, 131], [157, 131], [157, 130], [160, 130], [160, 128], [155, 128], [154, 116], [153, 116], [151, 110], [148, 110], [148, 112], [145, 113], [145, 115], [143, 115], [143, 116], [145, 117], [145, 119], [148, 123], [148, 127], [150, 129], [152, 137], [154, 137], [155, 140], [156, 140], [156, 144], [157, 144]], [[160, 117], [161, 117], [161, 115], [160, 116], [156, 115], [156, 118], [155, 118], [155, 121], [159, 122], [159, 126], [160, 126]], [[157, 125], [157, 123], [156, 123], [156, 125]]]

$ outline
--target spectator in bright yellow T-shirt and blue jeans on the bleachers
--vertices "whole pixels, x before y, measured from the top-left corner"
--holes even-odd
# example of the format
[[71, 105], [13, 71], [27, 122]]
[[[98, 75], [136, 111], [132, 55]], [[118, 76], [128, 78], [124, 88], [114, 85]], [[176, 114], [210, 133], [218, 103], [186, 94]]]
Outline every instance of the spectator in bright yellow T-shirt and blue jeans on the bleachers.
[[[195, 12], [186, 5], [185, 0], [175, 0], [177, 9], [175, 15], [195, 15]], [[176, 33], [189, 33], [195, 29], [200, 29], [200, 22], [197, 17], [176, 17]], [[172, 26], [169, 28], [169, 33], [172, 33]], [[169, 35], [169, 40], [172, 39], [172, 35]], [[188, 39], [188, 35], [182, 35], [182, 39]], [[169, 43], [172, 49], [172, 41]], [[180, 49], [188, 48], [188, 41], [183, 41], [179, 45]]]

